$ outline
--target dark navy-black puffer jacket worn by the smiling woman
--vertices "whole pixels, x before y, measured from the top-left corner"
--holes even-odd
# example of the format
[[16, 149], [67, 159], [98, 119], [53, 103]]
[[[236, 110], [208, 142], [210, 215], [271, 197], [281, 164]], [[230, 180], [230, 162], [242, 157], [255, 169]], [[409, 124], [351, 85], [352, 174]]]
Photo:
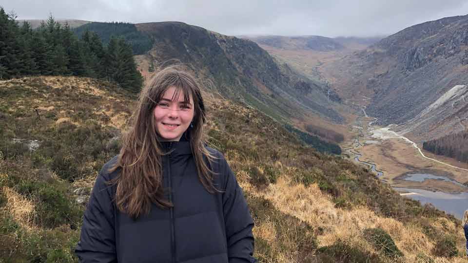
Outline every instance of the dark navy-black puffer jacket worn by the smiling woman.
[[[112, 201], [115, 187], [105, 182], [119, 170], [102, 168], [83, 218], [76, 254], [83, 263], [253, 263], [254, 222], [226, 160], [212, 169], [217, 188], [211, 194], [200, 183], [188, 141], [165, 143], [172, 152], [163, 156], [164, 188], [174, 207], [153, 205], [149, 215], [136, 221], [121, 213]], [[219, 187], [220, 186], [220, 187]]]

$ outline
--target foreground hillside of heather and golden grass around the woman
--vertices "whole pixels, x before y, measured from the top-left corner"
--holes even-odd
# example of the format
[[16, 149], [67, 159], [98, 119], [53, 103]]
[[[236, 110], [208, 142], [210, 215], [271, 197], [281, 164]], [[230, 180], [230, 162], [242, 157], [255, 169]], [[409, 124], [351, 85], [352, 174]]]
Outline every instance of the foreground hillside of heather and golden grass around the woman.
[[[244, 189], [260, 262], [467, 262], [452, 216], [303, 146], [257, 110], [206, 98], [208, 138]], [[87, 195], [133, 99], [88, 78], [0, 82], [0, 262], [77, 262]]]

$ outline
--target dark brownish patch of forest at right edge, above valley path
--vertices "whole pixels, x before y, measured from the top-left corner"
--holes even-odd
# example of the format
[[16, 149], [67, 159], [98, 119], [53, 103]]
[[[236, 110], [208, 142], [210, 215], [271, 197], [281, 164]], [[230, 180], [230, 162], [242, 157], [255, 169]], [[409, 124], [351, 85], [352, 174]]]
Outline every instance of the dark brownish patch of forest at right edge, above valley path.
[[423, 143], [423, 149], [435, 154], [455, 158], [468, 163], [468, 131], [449, 134], [447, 136]]

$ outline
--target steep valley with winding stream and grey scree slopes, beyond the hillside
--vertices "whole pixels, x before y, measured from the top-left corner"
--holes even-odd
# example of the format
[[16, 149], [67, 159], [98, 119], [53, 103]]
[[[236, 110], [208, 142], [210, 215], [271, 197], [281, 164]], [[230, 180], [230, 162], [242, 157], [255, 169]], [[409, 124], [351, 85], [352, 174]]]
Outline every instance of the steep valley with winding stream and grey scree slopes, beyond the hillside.
[[[369, 168], [374, 164], [383, 173], [379, 179], [399, 190], [408, 189], [405, 196], [424, 202], [421, 196], [432, 195], [430, 191], [446, 193], [432, 201], [425, 199], [444, 209], [448, 206], [439, 202], [441, 198], [458, 199], [457, 193], [468, 192], [468, 165], [420, 152], [412, 142], [422, 149], [427, 140], [466, 131], [467, 32], [467, 16], [460, 16], [415, 25], [354, 49], [329, 45], [327, 50], [313, 50], [294, 37], [251, 39], [304, 75], [325, 81], [340, 95], [342, 107], [351, 113], [346, 118], [348, 132], [342, 132], [347, 140], [341, 145], [350, 160], [358, 158]], [[390, 131], [390, 136], [372, 136], [389, 124], [398, 136]], [[416, 175], [421, 179], [410, 180]], [[429, 192], [415, 193], [415, 189]], [[466, 207], [455, 209], [447, 211], [460, 218]]]

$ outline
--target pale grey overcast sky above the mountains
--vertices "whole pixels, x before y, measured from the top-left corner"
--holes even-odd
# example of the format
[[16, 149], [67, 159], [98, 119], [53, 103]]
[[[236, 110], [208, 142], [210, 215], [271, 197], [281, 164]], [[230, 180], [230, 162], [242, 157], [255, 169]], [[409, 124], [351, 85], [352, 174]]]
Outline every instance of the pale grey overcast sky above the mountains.
[[468, 14], [468, 0], [2, 0], [18, 19], [181, 21], [225, 35], [391, 35]]

